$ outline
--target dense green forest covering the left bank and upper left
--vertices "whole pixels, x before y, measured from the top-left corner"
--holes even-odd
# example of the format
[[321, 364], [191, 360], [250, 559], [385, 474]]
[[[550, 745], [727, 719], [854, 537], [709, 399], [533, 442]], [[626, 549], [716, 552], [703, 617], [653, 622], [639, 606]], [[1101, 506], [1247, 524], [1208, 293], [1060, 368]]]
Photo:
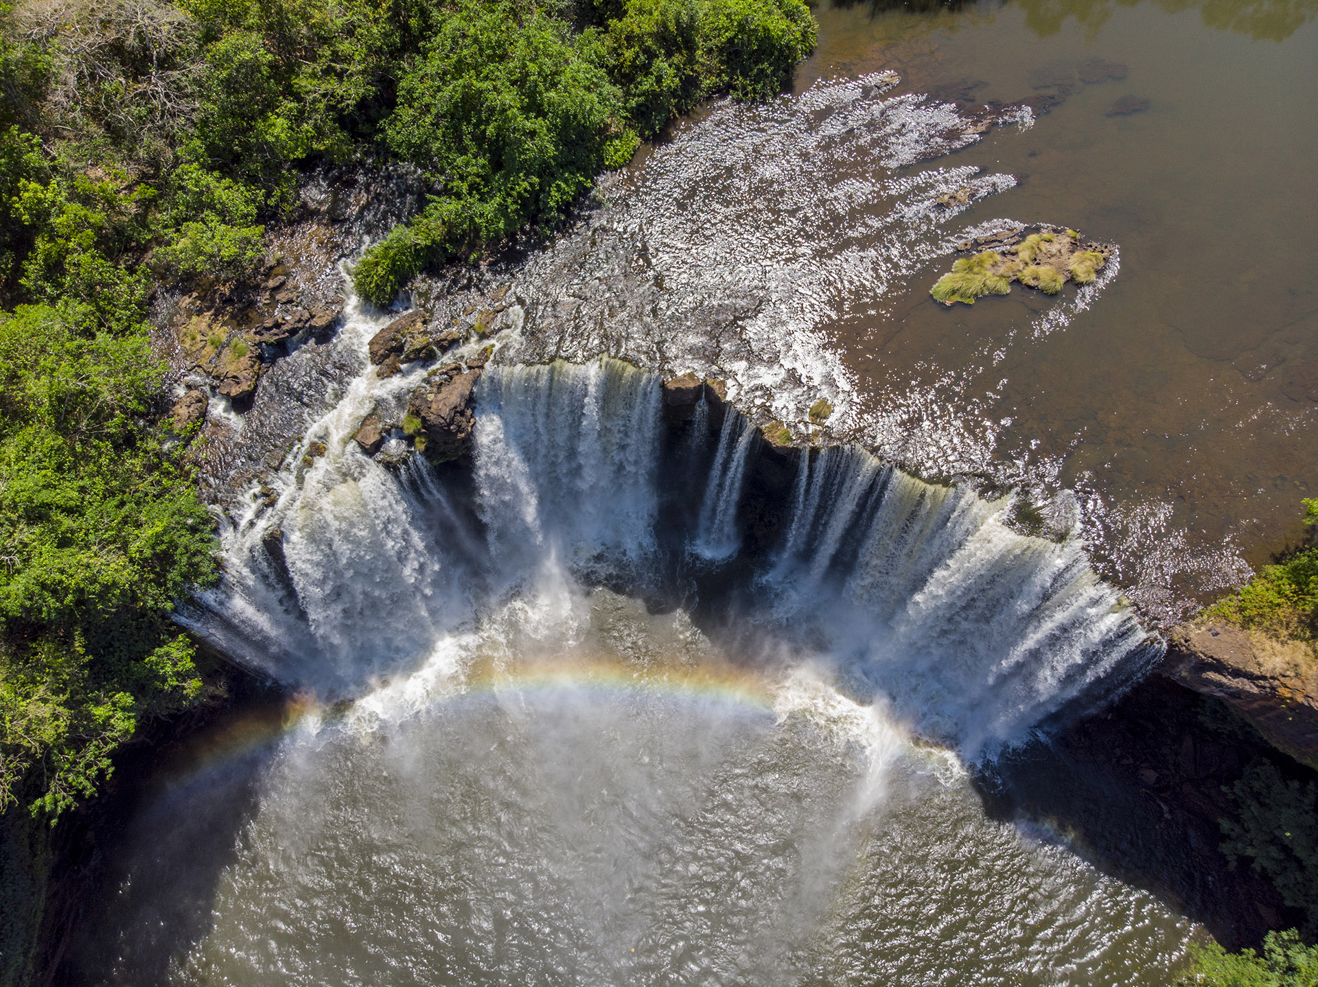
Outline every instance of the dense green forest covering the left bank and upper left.
[[57, 818], [203, 692], [170, 615], [214, 534], [154, 291], [253, 274], [307, 167], [397, 159], [434, 194], [357, 265], [387, 303], [813, 45], [801, 0], [0, 4], [0, 809]]

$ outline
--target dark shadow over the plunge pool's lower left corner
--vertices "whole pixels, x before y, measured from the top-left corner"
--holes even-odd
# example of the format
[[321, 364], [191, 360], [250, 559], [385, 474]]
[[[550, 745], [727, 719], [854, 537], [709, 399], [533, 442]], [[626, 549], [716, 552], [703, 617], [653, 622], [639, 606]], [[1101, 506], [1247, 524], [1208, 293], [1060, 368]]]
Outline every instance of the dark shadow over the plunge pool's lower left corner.
[[219, 712], [167, 727], [117, 760], [109, 795], [88, 806], [82, 850], [62, 880], [80, 908], [50, 928], [54, 987], [169, 983], [207, 934], [216, 888], [256, 812], [286, 696], [239, 684]]

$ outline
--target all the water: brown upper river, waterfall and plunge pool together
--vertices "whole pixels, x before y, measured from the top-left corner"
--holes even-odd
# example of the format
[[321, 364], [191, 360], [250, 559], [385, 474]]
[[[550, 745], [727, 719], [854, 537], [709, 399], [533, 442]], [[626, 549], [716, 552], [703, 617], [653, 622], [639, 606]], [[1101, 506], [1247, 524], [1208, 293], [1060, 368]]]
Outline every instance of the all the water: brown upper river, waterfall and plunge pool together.
[[[156, 768], [74, 979], [1168, 982], [1203, 933], [971, 777], [1143, 673], [1144, 627], [1313, 493], [1314, 4], [816, 14], [795, 96], [709, 109], [556, 242], [418, 287], [461, 314], [511, 285], [469, 474], [352, 441], [424, 374], [376, 378], [387, 314], [270, 370], [185, 619], [294, 698]], [[936, 306], [1004, 221], [1119, 262]], [[675, 370], [750, 418], [673, 431]], [[768, 419], [832, 447], [775, 453], [760, 544]]]

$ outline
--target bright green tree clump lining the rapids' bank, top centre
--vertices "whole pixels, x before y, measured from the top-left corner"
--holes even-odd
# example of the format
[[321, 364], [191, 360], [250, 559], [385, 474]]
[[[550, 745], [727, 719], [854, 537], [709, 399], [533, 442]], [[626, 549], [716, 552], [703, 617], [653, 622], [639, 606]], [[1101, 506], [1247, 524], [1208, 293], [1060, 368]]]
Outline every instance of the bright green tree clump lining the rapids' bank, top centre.
[[626, 165], [702, 98], [762, 99], [815, 47], [801, 0], [598, 3], [602, 29], [575, 33], [539, 7], [456, 0], [432, 11], [385, 123], [389, 149], [442, 183], [409, 233], [394, 231], [355, 273], [390, 302], [424, 266], [550, 225], [604, 169]]

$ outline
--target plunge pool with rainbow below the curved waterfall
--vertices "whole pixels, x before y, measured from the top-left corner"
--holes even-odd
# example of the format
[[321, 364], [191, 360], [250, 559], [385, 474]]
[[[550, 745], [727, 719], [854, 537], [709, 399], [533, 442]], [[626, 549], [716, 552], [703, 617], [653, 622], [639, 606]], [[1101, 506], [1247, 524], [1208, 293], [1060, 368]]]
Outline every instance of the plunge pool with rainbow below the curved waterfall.
[[1161, 984], [1193, 932], [809, 663], [605, 590], [194, 745], [129, 830], [108, 983]]

